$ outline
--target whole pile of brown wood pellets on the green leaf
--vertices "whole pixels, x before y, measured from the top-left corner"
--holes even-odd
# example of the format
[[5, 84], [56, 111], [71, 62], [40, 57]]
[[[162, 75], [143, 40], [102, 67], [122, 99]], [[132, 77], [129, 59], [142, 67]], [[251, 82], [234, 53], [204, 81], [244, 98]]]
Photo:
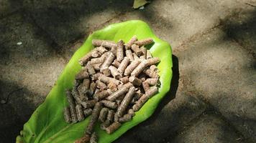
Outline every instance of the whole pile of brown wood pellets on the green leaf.
[[81, 122], [91, 115], [85, 135], [76, 142], [97, 142], [93, 128], [98, 121], [101, 129], [113, 133], [157, 94], [160, 82], [155, 64], [160, 59], [145, 47], [153, 42], [137, 36], [127, 44], [92, 40], [95, 48], [79, 60], [82, 69], [73, 89], [66, 90], [69, 106], [64, 109], [65, 122]]

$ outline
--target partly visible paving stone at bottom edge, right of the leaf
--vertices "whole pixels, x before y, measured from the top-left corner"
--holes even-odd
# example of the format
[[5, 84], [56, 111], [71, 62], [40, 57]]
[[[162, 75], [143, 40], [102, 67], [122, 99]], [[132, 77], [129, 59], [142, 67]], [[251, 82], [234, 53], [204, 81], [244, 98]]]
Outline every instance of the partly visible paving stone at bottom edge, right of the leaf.
[[191, 122], [177, 137], [164, 142], [244, 142], [242, 137], [216, 114], [204, 114]]

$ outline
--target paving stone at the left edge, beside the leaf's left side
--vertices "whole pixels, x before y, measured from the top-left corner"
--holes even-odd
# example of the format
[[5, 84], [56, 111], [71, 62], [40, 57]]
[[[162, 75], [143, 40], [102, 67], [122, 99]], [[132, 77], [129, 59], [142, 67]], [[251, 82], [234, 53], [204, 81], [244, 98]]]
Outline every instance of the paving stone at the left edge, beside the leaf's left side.
[[0, 104], [1, 142], [14, 142], [66, 64], [31, 23], [22, 14], [0, 21], [0, 100], [7, 102]]

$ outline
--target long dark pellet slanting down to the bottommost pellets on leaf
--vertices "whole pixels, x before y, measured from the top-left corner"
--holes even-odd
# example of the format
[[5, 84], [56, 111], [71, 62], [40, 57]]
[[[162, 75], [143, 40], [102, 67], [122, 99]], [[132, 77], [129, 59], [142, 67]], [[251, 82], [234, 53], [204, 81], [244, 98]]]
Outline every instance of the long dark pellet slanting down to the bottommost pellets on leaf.
[[93, 132], [93, 127], [95, 126], [97, 119], [99, 118], [99, 113], [101, 112], [101, 103], [97, 102], [93, 107], [93, 112], [91, 114], [90, 122], [86, 128], [86, 133], [91, 134]]

